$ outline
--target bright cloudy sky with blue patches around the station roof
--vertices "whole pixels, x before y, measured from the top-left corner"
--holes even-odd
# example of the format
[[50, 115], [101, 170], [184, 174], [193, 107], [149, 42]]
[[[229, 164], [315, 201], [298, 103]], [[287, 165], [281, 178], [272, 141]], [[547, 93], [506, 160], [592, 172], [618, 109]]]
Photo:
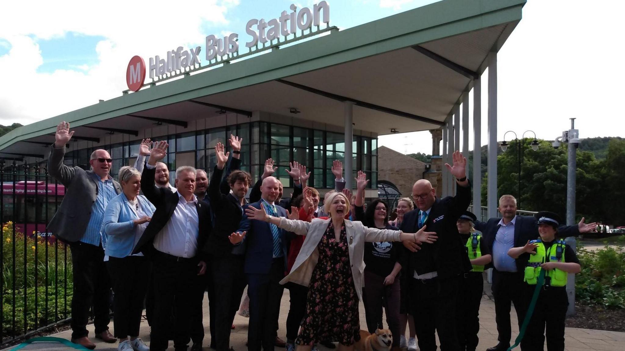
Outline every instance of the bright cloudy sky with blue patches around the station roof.
[[[471, 0], [467, 0], [471, 1]], [[129, 59], [202, 46], [209, 34], [239, 33], [249, 19], [279, 17], [292, 3], [317, 1], [201, 0], [8, 2], [0, 12], [0, 124], [30, 124], [118, 97]], [[434, 0], [331, 0], [339, 29], [391, 16]], [[625, 136], [622, 19], [625, 2], [529, 0], [523, 19], [497, 56], [497, 139], [527, 129], [554, 139], [576, 117], [581, 137]], [[244, 49], [242, 52], [246, 52]], [[204, 56], [202, 52], [201, 57]], [[202, 60], [204, 61], [204, 60]], [[146, 62], [147, 63], [147, 62]], [[482, 145], [486, 144], [487, 72], [482, 76]], [[472, 94], [470, 94], [472, 100]], [[472, 107], [469, 107], [472, 125]], [[470, 133], [471, 134], [471, 133]], [[533, 135], [526, 133], [526, 137]], [[511, 139], [508, 133], [506, 140]], [[469, 144], [472, 146], [472, 139]], [[431, 153], [429, 132], [380, 136], [399, 152]]]

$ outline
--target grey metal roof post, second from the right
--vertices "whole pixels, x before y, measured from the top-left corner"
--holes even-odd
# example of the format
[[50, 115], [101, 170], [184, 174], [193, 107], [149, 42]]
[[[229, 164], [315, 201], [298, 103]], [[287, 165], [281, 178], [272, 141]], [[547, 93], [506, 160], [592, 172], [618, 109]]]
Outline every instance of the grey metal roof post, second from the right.
[[473, 213], [482, 214], [482, 80], [473, 81]]

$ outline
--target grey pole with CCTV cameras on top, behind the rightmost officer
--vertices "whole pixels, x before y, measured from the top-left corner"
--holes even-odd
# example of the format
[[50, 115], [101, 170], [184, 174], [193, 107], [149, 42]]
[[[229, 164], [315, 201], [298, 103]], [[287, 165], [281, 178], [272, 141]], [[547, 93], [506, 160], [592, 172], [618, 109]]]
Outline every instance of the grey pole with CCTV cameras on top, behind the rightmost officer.
[[[569, 146], [569, 160], [567, 166], [566, 182], [566, 225], [575, 225], [575, 172], [577, 170], [577, 146], [579, 145], [579, 131], [575, 129], [575, 119], [571, 118], [571, 129], [564, 132]], [[564, 141], [564, 140], [563, 140]], [[571, 249], [576, 250], [577, 245], [574, 237], [565, 240]], [[566, 315], [575, 314], [575, 275], [569, 274], [566, 282], [566, 294], [569, 297], [569, 307]]]

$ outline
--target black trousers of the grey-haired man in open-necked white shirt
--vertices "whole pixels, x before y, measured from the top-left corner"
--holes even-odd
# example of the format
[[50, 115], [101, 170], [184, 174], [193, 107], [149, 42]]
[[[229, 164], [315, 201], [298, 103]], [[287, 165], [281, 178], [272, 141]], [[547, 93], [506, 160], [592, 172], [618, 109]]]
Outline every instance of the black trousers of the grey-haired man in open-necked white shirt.
[[[197, 260], [184, 259], [154, 250], [154, 323], [150, 350], [164, 351], [168, 348], [168, 329], [174, 328], [174, 347], [189, 344], [192, 325], [192, 309], [197, 308]], [[171, 325], [171, 313], [174, 325]]]

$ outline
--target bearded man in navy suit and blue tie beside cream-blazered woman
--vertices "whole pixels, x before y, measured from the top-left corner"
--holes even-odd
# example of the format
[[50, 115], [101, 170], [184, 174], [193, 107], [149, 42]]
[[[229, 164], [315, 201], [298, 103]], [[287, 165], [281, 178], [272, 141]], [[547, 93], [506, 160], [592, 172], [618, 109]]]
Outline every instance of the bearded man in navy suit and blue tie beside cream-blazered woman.
[[[287, 217], [285, 209], [277, 205], [279, 183], [275, 177], [262, 180], [261, 200], [247, 205], [261, 205], [267, 214], [275, 217]], [[241, 226], [237, 232], [246, 232], [246, 254], [244, 272], [247, 275], [247, 295], [249, 295], [249, 332], [247, 334], [247, 350], [264, 351], [274, 349], [280, 301], [283, 287], [280, 280], [284, 278], [287, 256], [286, 232], [274, 224], [249, 220], [243, 215]]]

